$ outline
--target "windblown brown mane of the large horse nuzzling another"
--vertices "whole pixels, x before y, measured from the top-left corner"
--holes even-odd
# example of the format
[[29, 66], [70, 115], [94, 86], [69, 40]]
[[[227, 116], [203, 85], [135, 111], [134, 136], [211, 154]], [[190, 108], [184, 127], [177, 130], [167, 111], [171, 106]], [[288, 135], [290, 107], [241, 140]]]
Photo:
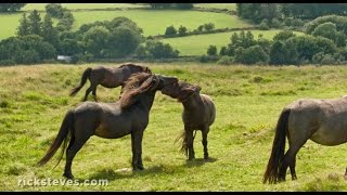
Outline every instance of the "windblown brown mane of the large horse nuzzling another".
[[158, 84], [158, 82], [152, 82], [156, 80], [156, 76], [147, 73], [137, 73], [129, 77], [129, 79], [125, 82], [121, 94], [120, 94], [120, 107], [126, 108], [131, 106], [139, 96], [150, 89], [154, 84]]

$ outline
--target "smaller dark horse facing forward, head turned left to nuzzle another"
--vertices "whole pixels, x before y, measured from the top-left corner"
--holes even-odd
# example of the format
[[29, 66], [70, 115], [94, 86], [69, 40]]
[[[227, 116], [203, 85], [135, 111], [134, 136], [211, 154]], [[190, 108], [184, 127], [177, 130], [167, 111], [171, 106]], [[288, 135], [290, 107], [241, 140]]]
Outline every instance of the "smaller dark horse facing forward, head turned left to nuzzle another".
[[[196, 130], [202, 131], [204, 145], [204, 159], [208, 159], [207, 134], [209, 126], [216, 118], [216, 107], [206, 94], [200, 94], [201, 87], [179, 81], [178, 84], [168, 84], [163, 88], [162, 93], [177, 99], [183, 105], [182, 120], [184, 131], [181, 136], [183, 139], [181, 151], [191, 160], [195, 158], [193, 142]], [[193, 135], [193, 131], [195, 134]]]

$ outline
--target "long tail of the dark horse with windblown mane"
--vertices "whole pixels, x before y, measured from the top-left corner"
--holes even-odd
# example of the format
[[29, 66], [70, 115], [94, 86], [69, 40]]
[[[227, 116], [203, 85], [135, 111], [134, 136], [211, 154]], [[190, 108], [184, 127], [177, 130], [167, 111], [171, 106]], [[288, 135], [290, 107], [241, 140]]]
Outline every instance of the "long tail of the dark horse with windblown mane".
[[53, 155], [56, 153], [59, 147], [62, 145], [62, 142], [64, 141], [61, 157], [60, 157], [56, 166], [59, 165], [59, 162], [61, 161], [61, 159], [64, 155], [64, 151], [66, 148], [66, 143], [68, 140], [68, 132], [69, 132], [69, 130], [72, 132], [74, 130], [73, 128], [74, 128], [74, 110], [70, 109], [66, 113], [64, 120], [62, 122], [61, 129], [60, 129], [55, 140], [53, 141], [52, 145], [50, 146], [50, 148], [48, 150], [48, 152], [43, 156], [43, 158], [37, 164], [38, 166], [42, 166], [42, 165], [47, 164], [53, 157]]

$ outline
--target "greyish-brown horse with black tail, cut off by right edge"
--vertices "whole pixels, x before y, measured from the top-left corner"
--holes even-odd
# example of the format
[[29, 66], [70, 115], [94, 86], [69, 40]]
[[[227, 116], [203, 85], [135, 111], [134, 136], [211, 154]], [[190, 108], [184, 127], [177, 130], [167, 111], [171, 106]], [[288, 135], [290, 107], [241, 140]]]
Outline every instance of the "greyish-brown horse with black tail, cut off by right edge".
[[[290, 147], [284, 155], [285, 138], [288, 139]], [[330, 100], [301, 99], [283, 108], [262, 182], [285, 181], [288, 167], [292, 180], [296, 180], [296, 154], [308, 139], [329, 146], [347, 142], [346, 96]]]

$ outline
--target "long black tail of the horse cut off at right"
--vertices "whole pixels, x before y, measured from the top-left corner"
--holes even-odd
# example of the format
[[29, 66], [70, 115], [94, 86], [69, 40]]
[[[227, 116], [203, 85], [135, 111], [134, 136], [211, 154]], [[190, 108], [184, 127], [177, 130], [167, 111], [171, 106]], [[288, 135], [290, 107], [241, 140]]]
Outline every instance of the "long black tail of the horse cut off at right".
[[284, 159], [285, 136], [288, 130], [288, 118], [291, 109], [284, 108], [280, 115], [275, 127], [275, 135], [273, 139], [271, 156], [268, 167], [264, 174], [262, 183], [277, 183], [279, 180], [280, 168]]

